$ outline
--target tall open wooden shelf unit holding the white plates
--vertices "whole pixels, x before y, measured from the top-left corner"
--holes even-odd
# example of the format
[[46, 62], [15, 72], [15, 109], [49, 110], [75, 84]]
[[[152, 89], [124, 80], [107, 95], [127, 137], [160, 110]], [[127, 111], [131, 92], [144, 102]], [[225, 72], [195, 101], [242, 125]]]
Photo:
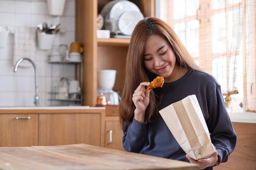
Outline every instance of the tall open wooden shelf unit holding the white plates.
[[[97, 103], [97, 71], [117, 70], [114, 91], [122, 91], [129, 39], [97, 38], [97, 16], [111, 0], [76, 0], [76, 41], [83, 44], [83, 105]], [[130, 0], [144, 17], [155, 16], [155, 0]]]

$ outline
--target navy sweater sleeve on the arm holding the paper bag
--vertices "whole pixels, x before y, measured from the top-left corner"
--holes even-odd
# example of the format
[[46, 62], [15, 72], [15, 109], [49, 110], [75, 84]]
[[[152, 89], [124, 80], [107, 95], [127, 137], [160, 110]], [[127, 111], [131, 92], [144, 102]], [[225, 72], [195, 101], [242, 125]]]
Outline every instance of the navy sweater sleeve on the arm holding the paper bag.
[[207, 124], [211, 141], [220, 153], [222, 162], [227, 162], [229, 155], [235, 149], [237, 136], [227, 113], [219, 84], [216, 84], [216, 92], [207, 100], [210, 115]]

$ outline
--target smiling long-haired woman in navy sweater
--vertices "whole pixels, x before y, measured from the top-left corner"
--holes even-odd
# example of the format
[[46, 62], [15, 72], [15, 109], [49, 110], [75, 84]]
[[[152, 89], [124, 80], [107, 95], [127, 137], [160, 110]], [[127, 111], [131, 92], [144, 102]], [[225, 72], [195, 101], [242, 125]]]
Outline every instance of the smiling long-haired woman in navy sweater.
[[[173, 29], [158, 18], [145, 18], [135, 27], [126, 56], [125, 82], [120, 101], [120, 123], [126, 151], [190, 161], [212, 170], [226, 162], [236, 146], [236, 133], [216, 79], [195, 64]], [[162, 88], [146, 88], [155, 77]], [[216, 148], [210, 157], [186, 155], [166, 126], [159, 110], [196, 95]]]

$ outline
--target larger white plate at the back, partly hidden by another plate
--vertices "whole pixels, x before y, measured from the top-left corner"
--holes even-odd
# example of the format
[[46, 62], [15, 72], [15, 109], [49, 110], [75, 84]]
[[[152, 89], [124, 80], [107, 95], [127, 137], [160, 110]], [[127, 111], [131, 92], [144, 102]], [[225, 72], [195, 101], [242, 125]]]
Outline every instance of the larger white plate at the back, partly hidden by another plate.
[[130, 10], [140, 12], [139, 7], [128, 0], [117, 1], [110, 9], [109, 18], [119, 18], [122, 13]]

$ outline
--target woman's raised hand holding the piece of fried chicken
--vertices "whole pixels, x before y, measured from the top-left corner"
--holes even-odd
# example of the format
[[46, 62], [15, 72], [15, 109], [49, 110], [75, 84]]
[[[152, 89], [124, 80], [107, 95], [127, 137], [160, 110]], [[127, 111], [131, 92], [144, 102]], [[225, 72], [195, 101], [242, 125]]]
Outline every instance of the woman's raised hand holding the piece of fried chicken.
[[139, 122], [145, 121], [146, 108], [149, 104], [149, 93], [151, 90], [146, 89], [150, 82], [141, 82], [132, 95], [132, 101], [135, 105], [134, 118]]

